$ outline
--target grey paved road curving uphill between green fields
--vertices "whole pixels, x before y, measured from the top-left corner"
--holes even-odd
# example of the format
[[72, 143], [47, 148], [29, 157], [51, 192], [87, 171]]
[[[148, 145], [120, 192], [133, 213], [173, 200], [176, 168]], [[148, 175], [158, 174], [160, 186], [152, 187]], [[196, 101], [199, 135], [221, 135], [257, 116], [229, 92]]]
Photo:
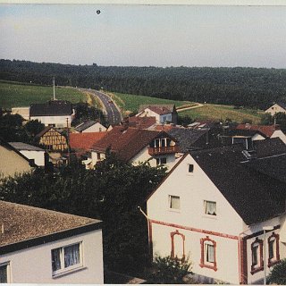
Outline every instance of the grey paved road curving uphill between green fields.
[[116, 125], [122, 121], [122, 114], [118, 110], [117, 106], [111, 97], [108, 97], [105, 93], [97, 91], [95, 89], [79, 88], [82, 91], [87, 91], [90, 94], [97, 97], [105, 107], [106, 120], [109, 124]]

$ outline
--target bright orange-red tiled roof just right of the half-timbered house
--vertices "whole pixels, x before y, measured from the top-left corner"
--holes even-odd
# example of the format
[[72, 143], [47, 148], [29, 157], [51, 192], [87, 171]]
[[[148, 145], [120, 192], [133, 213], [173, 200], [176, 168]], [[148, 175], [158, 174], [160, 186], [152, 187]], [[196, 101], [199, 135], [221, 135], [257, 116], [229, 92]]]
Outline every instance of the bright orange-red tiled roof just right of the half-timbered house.
[[98, 140], [105, 137], [107, 132], [88, 132], [88, 133], [71, 133], [71, 149], [80, 149], [88, 151]]

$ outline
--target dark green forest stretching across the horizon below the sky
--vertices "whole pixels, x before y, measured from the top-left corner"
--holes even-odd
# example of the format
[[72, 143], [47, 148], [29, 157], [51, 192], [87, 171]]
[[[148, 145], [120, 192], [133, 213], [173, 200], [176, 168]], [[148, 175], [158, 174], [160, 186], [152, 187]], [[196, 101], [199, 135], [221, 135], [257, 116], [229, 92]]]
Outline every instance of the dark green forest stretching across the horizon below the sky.
[[265, 109], [286, 101], [286, 69], [119, 67], [0, 60], [0, 79]]

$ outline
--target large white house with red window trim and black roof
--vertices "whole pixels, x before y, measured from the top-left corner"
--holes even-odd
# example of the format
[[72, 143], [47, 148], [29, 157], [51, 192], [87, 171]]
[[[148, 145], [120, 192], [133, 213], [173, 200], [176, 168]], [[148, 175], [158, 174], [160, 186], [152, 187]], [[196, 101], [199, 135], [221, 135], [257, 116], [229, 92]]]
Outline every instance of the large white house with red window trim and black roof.
[[[147, 199], [153, 257], [189, 257], [205, 283], [262, 282], [264, 265], [269, 273], [286, 257], [286, 172], [275, 172], [286, 154], [259, 154], [231, 146], [183, 156]], [[264, 226], [273, 227], [265, 263]]]

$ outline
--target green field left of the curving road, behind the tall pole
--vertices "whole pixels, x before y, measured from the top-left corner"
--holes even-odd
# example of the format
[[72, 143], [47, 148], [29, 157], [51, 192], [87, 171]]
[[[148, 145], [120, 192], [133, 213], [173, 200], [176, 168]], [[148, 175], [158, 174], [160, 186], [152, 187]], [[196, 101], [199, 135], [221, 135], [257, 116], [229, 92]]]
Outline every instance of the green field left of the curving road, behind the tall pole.
[[[53, 87], [0, 82], [0, 106], [12, 108], [44, 103], [53, 99]], [[55, 87], [56, 99], [69, 100], [71, 103], [86, 102], [86, 95], [72, 88]]]

